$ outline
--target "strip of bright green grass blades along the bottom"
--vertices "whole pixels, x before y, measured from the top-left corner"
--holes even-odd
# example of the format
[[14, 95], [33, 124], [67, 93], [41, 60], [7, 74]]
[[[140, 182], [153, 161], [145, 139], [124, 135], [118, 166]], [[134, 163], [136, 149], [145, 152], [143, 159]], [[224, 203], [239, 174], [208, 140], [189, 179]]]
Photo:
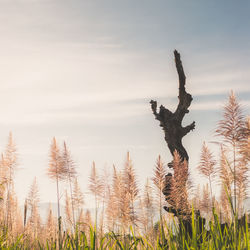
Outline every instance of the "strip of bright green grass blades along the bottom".
[[[154, 237], [140, 235], [131, 227], [126, 235], [108, 232], [97, 238], [96, 230], [91, 226], [88, 232], [79, 232], [76, 228], [72, 235], [64, 233], [62, 249], [250, 249], [246, 218], [241, 223], [235, 220], [234, 223], [222, 227], [214, 213], [213, 221], [209, 224], [210, 229], [206, 230], [193, 215], [192, 233], [186, 230], [183, 222], [175, 225], [176, 228], [168, 228], [165, 223], [164, 226], [158, 225], [155, 228], [152, 232]], [[36, 239], [31, 243], [23, 235], [10, 240], [6, 230], [2, 230], [0, 249], [59, 249], [59, 245], [56, 239], [46, 242]]]

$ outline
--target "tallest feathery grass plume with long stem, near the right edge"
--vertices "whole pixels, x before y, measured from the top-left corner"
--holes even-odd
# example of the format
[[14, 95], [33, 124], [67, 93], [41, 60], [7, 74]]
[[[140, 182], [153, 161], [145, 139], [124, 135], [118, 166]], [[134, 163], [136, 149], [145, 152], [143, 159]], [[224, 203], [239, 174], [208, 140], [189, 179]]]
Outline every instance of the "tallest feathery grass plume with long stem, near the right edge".
[[245, 138], [245, 117], [233, 91], [229, 95], [228, 103], [224, 106], [223, 119], [218, 122], [215, 133], [217, 136], [222, 137], [226, 146], [231, 146], [233, 157], [234, 212], [236, 212], [237, 151], [239, 150], [240, 142]]

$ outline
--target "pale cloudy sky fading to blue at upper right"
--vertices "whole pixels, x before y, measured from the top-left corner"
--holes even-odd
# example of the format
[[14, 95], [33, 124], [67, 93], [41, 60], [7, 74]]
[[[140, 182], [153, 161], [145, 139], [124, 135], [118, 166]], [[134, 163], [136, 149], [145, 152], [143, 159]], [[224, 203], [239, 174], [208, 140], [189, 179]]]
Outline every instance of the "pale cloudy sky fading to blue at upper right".
[[171, 161], [149, 101], [178, 103], [174, 49], [193, 96], [184, 145], [199, 179], [201, 145], [216, 140], [231, 90], [250, 113], [249, 11], [247, 0], [0, 0], [0, 150], [12, 131], [21, 203], [35, 176], [41, 201], [56, 200], [46, 176], [54, 136], [86, 195], [93, 161], [112, 171], [129, 151], [141, 185], [159, 154]]

